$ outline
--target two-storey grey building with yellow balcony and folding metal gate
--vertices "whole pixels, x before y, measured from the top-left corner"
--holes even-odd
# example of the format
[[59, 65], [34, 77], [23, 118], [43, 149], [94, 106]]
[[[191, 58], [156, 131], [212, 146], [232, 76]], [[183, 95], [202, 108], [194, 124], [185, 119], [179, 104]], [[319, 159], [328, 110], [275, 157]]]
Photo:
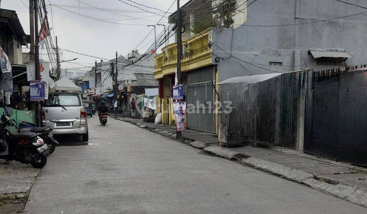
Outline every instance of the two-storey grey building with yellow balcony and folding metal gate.
[[[218, 17], [223, 4], [232, 24]], [[356, 5], [362, 0], [351, 1]], [[230, 5], [228, 6], [230, 8]], [[191, 0], [183, 11], [181, 82], [188, 103], [187, 126], [218, 132], [214, 113], [217, 84], [224, 79], [306, 68], [317, 70], [365, 63], [365, 10], [333, 0]], [[218, 13], [222, 13], [219, 14]], [[175, 13], [170, 22], [175, 21]], [[229, 28], [228, 28], [229, 26]], [[208, 27], [208, 28], [206, 28]], [[205, 30], [203, 30], [205, 29]], [[173, 124], [172, 86], [177, 45], [156, 56], [163, 123]], [[220, 107], [217, 104], [217, 107]]]

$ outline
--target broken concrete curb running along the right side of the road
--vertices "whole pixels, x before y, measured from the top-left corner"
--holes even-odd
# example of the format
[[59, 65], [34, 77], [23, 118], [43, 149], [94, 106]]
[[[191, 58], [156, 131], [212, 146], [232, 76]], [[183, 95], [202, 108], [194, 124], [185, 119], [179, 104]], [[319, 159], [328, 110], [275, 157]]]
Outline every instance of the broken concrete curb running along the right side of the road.
[[[145, 128], [155, 133], [159, 133], [162, 136], [169, 137], [176, 140], [176, 134], [169, 131], [162, 131], [146, 125], [141, 125], [129, 120], [119, 119], [124, 122], [129, 122], [137, 125], [140, 128]], [[191, 142], [193, 141], [193, 142]], [[294, 182], [302, 183], [310, 186], [313, 189], [328, 193], [330, 195], [342, 198], [352, 203], [367, 207], [367, 191], [358, 186], [346, 185], [345, 183], [339, 183], [337, 180], [324, 179], [323, 177], [314, 176], [308, 172], [296, 170], [284, 165], [276, 164], [266, 161], [263, 158], [251, 157], [249, 154], [233, 151], [219, 146], [209, 146], [201, 141], [195, 141], [194, 139], [182, 139], [179, 142], [188, 144], [194, 148], [201, 149], [207, 153], [220, 156], [231, 161], [238, 160], [240, 164], [248, 167], [261, 170], [281, 178], [285, 178]], [[274, 149], [276, 150], [276, 149]], [[284, 152], [286, 153], [286, 152]], [[295, 154], [301, 156], [299, 154]], [[325, 182], [328, 181], [328, 182]]]

